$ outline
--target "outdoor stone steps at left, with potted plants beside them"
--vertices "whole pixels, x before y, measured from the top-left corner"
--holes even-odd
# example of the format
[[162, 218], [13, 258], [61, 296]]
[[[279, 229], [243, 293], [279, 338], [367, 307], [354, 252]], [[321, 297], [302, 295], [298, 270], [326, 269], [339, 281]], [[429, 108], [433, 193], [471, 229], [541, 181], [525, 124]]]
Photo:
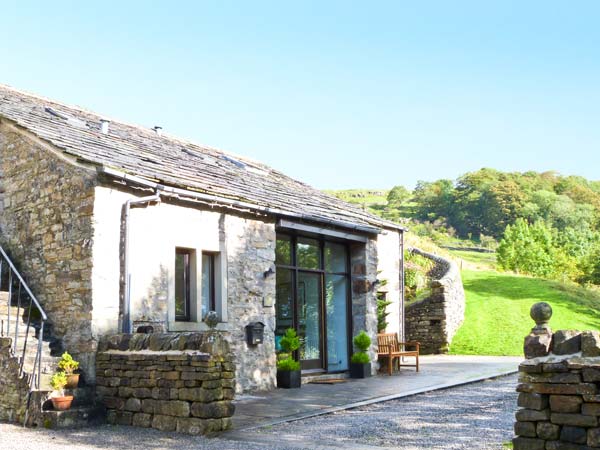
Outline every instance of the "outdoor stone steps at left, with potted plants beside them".
[[[39, 335], [39, 325], [37, 323], [39, 321], [34, 320], [32, 317], [28, 328], [28, 310], [28, 305], [26, 308], [18, 308], [14, 304], [14, 300], [9, 306], [8, 292], [0, 291], [0, 338], [11, 339], [11, 355], [14, 358], [14, 364], [20, 364], [23, 360], [24, 376], [27, 380], [31, 380], [39, 343], [37, 339]], [[48, 336], [48, 329], [46, 329], [41, 345], [39, 389], [30, 390], [27, 425], [44, 428], [76, 428], [102, 423], [105, 412], [104, 408], [95, 401], [95, 389], [92, 386], [82, 385], [81, 381], [77, 389], [65, 391], [66, 395], [74, 396], [71, 409], [67, 411], [55, 411], [53, 409], [52, 402], [49, 400], [52, 392], [50, 379], [57, 370], [60, 356], [53, 354], [52, 342], [48, 339]], [[16, 351], [14, 348], [15, 339], [17, 342]], [[2, 370], [0, 365], [0, 371]], [[22, 380], [15, 380], [15, 382], [22, 383]]]

